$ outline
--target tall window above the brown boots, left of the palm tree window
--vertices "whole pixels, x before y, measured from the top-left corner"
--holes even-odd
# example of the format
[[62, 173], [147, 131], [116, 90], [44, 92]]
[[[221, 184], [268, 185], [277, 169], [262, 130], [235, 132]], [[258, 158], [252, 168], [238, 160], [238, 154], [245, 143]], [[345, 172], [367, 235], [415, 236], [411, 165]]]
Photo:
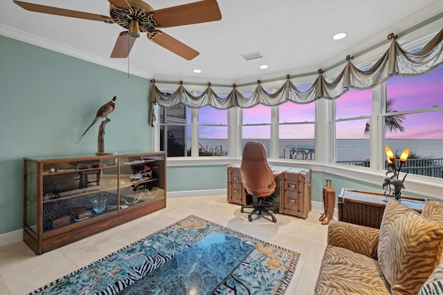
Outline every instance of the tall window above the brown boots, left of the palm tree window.
[[335, 100], [335, 162], [370, 166], [372, 89], [350, 89]]

